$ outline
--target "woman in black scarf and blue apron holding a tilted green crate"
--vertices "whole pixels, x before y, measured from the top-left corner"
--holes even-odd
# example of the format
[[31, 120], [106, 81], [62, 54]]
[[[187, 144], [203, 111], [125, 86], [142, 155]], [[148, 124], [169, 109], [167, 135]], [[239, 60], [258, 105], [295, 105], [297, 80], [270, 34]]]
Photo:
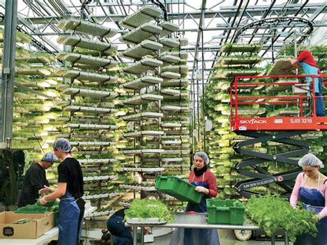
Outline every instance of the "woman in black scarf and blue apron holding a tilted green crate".
[[[204, 193], [200, 204], [188, 203], [186, 212], [195, 211], [206, 213], [206, 199], [217, 196], [217, 180], [215, 175], [208, 170], [209, 157], [204, 152], [194, 155], [195, 168], [190, 172], [188, 182], [198, 192]], [[191, 229], [177, 228], [172, 234], [170, 245], [219, 245], [218, 231], [216, 229]]]

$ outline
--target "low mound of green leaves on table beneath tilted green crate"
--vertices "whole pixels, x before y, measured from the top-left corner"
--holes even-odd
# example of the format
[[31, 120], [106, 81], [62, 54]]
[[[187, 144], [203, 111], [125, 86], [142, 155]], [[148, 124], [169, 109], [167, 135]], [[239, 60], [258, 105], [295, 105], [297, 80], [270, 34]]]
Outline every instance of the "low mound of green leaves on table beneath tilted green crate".
[[172, 220], [172, 215], [166, 204], [157, 199], [134, 199], [130, 208], [125, 212], [126, 218], [159, 218]]

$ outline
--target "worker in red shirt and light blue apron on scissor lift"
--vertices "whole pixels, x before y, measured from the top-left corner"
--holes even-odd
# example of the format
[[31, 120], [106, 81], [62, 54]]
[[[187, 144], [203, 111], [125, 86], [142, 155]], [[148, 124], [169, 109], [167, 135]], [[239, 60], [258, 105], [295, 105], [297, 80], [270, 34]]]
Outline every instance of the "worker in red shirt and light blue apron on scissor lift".
[[[306, 50], [304, 46], [299, 46], [297, 52], [297, 58], [290, 60], [294, 66], [293, 69], [301, 67], [304, 70], [305, 75], [320, 75], [319, 67], [317, 66], [317, 63], [311, 52]], [[306, 77], [307, 84], [311, 84], [312, 81], [312, 77]], [[322, 98], [322, 86], [322, 78], [315, 77], [315, 102], [317, 117], [325, 116], [324, 99]]]

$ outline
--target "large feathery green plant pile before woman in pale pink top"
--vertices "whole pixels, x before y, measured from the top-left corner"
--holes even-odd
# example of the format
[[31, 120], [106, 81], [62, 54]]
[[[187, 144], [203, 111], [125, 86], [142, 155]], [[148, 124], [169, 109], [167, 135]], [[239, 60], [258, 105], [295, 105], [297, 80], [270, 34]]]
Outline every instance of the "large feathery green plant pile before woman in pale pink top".
[[284, 229], [290, 241], [294, 242], [297, 235], [302, 233], [310, 233], [313, 236], [317, 234], [317, 227], [312, 219], [315, 212], [301, 207], [295, 209], [279, 195], [251, 197], [246, 204], [246, 213], [264, 228], [268, 236]]

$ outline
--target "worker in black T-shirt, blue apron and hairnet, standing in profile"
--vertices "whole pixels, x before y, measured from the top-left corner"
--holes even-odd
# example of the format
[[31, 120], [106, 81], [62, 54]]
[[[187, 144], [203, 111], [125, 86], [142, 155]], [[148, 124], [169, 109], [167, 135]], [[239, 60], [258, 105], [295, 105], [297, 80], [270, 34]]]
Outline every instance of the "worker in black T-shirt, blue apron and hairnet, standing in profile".
[[[84, 194], [83, 174], [79, 161], [70, 154], [71, 149], [67, 139], [60, 138], [54, 141], [54, 154], [62, 160], [58, 166], [58, 188], [39, 201], [41, 205], [45, 205], [53, 199], [60, 199], [58, 245], [79, 244], [83, 224], [85, 206], [81, 198]], [[49, 192], [50, 188], [40, 190], [40, 193]]]

